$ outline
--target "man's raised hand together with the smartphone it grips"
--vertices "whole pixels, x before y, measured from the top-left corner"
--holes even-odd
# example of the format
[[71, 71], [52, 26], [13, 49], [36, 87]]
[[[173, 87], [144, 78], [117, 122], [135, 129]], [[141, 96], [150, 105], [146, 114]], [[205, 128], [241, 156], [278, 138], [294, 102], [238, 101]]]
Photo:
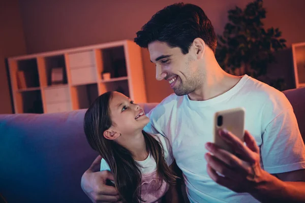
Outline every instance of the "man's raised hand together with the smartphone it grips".
[[[206, 143], [210, 153], [204, 157], [212, 180], [235, 192], [253, 193], [264, 181], [267, 172], [260, 166], [259, 147], [255, 139], [243, 129], [244, 119], [242, 108], [217, 112], [214, 143]], [[237, 134], [229, 131], [228, 127]]]

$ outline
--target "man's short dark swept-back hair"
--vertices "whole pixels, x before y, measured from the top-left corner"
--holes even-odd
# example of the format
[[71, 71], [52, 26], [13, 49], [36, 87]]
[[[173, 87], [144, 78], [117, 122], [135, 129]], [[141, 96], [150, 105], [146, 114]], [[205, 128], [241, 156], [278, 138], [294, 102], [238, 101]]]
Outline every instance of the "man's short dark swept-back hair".
[[187, 54], [196, 38], [201, 38], [215, 53], [217, 37], [211, 21], [200, 7], [179, 3], [167, 6], [151, 17], [137, 32], [134, 41], [143, 48], [154, 41], [166, 42]]

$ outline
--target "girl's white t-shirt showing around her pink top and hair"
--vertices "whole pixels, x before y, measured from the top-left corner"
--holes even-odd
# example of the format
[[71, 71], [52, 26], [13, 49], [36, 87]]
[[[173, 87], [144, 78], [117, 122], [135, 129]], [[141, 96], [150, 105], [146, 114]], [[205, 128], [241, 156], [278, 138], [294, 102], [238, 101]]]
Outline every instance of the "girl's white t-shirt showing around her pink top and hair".
[[[169, 140], [165, 138], [164, 136], [161, 136], [161, 134], [151, 134], [157, 141], [159, 141], [163, 147], [164, 150], [164, 158], [167, 165], [172, 164], [173, 162], [173, 155], [172, 155], [172, 149], [169, 144]], [[140, 169], [142, 174], [152, 173], [157, 169], [157, 163], [154, 159], [154, 157], [149, 153], [147, 158], [143, 161], [137, 161], [140, 165]], [[105, 159], [101, 160], [101, 170], [100, 171], [111, 171], [108, 163]]]

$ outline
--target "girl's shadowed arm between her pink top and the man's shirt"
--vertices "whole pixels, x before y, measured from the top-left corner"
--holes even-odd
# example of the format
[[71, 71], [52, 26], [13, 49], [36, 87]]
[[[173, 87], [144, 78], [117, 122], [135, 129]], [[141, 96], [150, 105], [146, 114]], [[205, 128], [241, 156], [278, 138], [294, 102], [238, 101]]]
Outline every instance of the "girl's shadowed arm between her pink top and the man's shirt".
[[176, 161], [170, 165], [171, 170], [177, 176], [176, 184], [170, 185], [168, 191], [163, 198], [163, 202], [172, 202], [172, 203], [184, 203], [184, 196], [182, 195], [181, 186], [183, 183], [182, 172], [177, 166]]

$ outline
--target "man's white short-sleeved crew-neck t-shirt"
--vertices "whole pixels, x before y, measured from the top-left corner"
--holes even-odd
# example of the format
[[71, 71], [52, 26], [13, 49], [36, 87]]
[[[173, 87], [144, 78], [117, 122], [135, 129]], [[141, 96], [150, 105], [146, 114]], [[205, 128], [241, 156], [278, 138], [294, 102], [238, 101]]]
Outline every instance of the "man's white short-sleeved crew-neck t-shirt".
[[237, 107], [246, 109], [245, 129], [260, 147], [265, 171], [277, 174], [305, 168], [305, 147], [282, 92], [245, 75], [229, 91], [208, 100], [171, 94], [149, 112], [144, 130], [169, 139], [191, 202], [257, 202], [249, 193], [218, 185], [206, 172], [204, 145], [213, 142], [214, 114]]

